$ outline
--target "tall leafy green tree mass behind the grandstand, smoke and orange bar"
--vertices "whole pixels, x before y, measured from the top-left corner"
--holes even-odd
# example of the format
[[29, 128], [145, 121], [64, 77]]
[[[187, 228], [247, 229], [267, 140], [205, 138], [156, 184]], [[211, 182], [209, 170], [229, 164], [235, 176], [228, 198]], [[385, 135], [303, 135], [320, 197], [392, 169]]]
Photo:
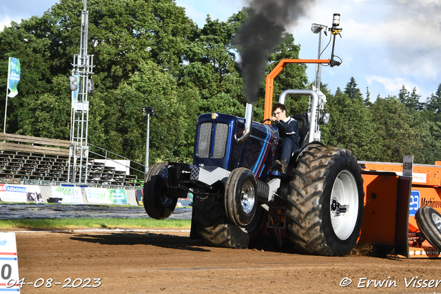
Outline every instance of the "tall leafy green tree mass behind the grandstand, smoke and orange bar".
[[[83, 3], [60, 0], [43, 14], [0, 32], [0, 72], [9, 56], [21, 60], [19, 96], [8, 103], [8, 132], [69, 139], [67, 76], [79, 53]], [[232, 36], [245, 10], [228, 21], [207, 17], [198, 28], [173, 0], [89, 0], [88, 54], [94, 56], [95, 92], [89, 95], [89, 142], [143, 162], [143, 106], [156, 108], [151, 121], [150, 163], [192, 158], [199, 114], [243, 116], [243, 81]], [[267, 71], [281, 59], [298, 58], [300, 45], [285, 34]], [[306, 88], [305, 65], [289, 65], [275, 81], [275, 95]], [[6, 92], [6, 81], [0, 81]], [[260, 98], [265, 83], [262, 81]], [[304, 112], [307, 97], [287, 99], [290, 113]], [[260, 103], [260, 105], [259, 105]], [[3, 103], [4, 105], [4, 103]], [[256, 105], [263, 118], [263, 99]]]

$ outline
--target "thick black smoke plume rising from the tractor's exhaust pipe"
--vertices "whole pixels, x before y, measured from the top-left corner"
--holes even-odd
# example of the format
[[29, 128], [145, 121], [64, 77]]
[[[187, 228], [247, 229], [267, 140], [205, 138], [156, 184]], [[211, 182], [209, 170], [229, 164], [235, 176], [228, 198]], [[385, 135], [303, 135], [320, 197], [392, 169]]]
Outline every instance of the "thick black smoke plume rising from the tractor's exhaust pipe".
[[232, 44], [240, 54], [245, 99], [254, 104], [269, 54], [282, 41], [285, 28], [305, 15], [314, 1], [249, 0], [248, 3], [247, 20], [240, 25]]

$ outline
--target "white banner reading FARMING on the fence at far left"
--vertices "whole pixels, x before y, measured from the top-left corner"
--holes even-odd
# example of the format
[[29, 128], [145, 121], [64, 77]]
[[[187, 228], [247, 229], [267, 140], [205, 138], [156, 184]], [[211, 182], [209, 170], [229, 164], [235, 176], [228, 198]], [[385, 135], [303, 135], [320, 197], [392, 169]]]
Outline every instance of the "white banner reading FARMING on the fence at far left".
[[0, 185], [0, 200], [5, 202], [43, 202], [39, 186]]

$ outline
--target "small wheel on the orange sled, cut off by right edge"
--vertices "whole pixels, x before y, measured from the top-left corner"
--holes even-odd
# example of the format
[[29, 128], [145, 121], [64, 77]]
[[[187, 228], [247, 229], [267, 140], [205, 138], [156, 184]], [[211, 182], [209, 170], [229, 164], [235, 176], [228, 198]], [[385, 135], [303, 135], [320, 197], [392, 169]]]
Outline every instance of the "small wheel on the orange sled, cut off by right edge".
[[431, 207], [421, 207], [415, 219], [424, 239], [441, 251], [441, 214]]

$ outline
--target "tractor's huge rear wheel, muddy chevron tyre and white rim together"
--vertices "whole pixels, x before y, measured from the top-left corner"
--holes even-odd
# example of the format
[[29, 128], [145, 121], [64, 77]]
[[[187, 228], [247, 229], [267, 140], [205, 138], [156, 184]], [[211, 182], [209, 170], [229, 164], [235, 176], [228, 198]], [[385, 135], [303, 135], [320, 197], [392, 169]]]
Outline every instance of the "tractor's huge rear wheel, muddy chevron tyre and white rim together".
[[347, 255], [360, 236], [364, 191], [351, 151], [311, 145], [302, 152], [290, 182], [289, 233], [300, 251]]

